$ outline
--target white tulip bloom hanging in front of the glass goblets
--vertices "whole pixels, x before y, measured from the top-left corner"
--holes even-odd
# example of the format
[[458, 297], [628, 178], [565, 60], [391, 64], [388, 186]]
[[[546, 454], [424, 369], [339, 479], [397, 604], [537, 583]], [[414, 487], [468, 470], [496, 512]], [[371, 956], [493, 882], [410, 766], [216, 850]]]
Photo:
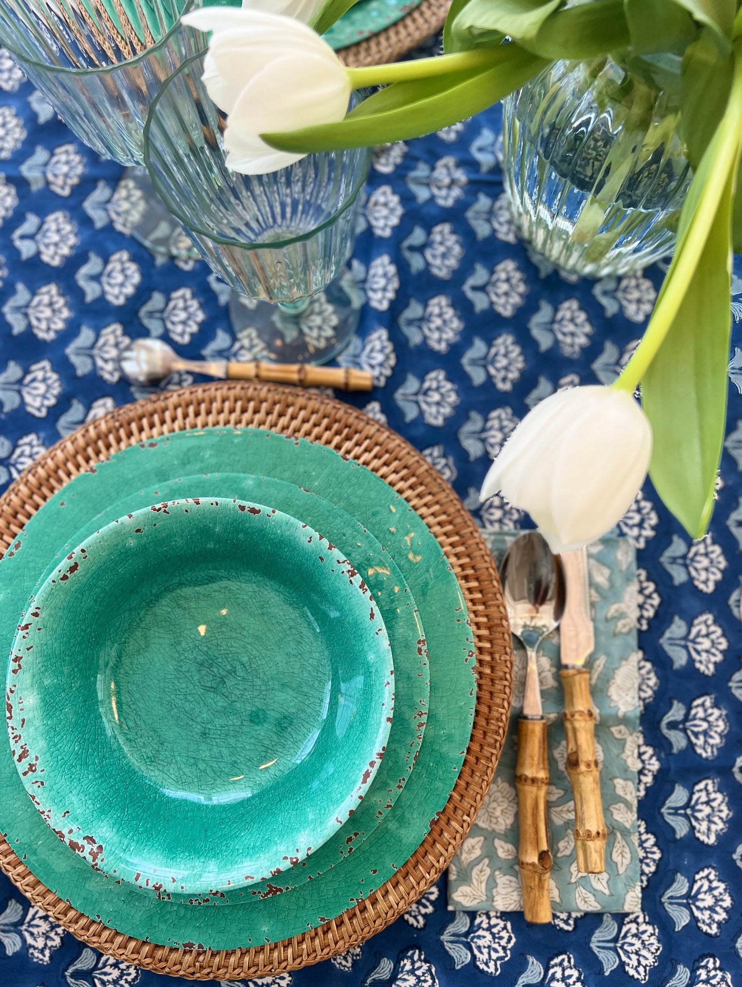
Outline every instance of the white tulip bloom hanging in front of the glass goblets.
[[333, 123], [345, 115], [350, 79], [333, 49], [292, 17], [204, 7], [183, 23], [212, 32], [203, 82], [227, 114], [227, 165], [243, 175], [287, 168], [304, 154], [276, 151], [261, 133]]

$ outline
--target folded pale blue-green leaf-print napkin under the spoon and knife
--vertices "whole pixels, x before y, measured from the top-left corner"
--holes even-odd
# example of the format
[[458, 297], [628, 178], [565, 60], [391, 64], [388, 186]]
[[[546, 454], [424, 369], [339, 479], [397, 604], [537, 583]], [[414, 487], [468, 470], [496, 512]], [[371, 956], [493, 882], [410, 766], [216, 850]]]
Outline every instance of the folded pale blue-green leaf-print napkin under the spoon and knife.
[[[499, 563], [515, 532], [486, 532]], [[636, 784], [639, 703], [636, 559], [625, 538], [607, 535], [588, 549], [595, 650], [588, 659], [596, 709], [595, 739], [602, 761], [601, 792], [609, 836], [604, 873], [578, 874], [574, 859], [574, 799], [565, 771], [558, 632], [541, 646], [539, 679], [549, 721], [549, 825], [556, 912], [636, 912], [641, 907]], [[523, 705], [525, 652], [516, 642], [510, 729], [494, 780], [472, 831], [448, 872], [451, 910], [521, 911], [515, 737]]]

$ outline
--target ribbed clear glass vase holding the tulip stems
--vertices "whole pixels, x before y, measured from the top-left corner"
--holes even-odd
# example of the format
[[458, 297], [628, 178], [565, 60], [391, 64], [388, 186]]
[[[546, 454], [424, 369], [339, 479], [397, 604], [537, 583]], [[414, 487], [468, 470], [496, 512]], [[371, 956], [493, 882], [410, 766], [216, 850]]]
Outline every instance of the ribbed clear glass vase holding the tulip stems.
[[503, 178], [523, 239], [580, 275], [672, 253], [692, 178], [680, 58], [556, 62], [503, 105]]

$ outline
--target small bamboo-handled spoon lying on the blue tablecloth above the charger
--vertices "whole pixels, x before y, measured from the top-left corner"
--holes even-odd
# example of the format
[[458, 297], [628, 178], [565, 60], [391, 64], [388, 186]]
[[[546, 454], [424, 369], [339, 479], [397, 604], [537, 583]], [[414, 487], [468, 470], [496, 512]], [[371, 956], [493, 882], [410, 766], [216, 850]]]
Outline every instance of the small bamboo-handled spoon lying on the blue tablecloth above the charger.
[[261, 380], [302, 387], [334, 387], [339, 391], [370, 391], [373, 375], [354, 367], [318, 367], [309, 363], [266, 363], [263, 360], [185, 360], [162, 340], [134, 340], [121, 353], [121, 370], [139, 384], [164, 380], [176, 370], [202, 373], [221, 380]]

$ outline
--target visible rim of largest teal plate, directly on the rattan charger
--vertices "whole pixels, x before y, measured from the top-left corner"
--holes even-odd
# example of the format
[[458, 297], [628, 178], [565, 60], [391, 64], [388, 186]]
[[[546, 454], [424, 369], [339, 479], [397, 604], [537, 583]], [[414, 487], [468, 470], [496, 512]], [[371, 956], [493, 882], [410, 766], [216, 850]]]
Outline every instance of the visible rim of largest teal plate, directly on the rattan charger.
[[[137, 491], [192, 473], [195, 464], [203, 472], [242, 467], [245, 472], [309, 486], [361, 520], [392, 552], [408, 581], [426, 630], [430, 661], [428, 721], [408, 784], [384, 822], [331, 873], [285, 895], [244, 905], [202, 908], [150, 900], [134, 888], [118, 886], [90, 872], [71, 900], [79, 911], [122, 934], [149, 942], [198, 949], [250, 948], [299, 935], [340, 915], [380, 887], [422, 842], [445, 807], [469, 743], [476, 704], [474, 644], [453, 570], [402, 496], [327, 446], [260, 429], [216, 428], [177, 432], [130, 446], [77, 477], [74, 490], [68, 485], [39, 510], [25, 537], [16, 540], [0, 564], [0, 614], [13, 625], [9, 627], [8, 645], [17, 620], [8, 620], [8, 612], [21, 612], [38, 575], [65, 539], [63, 529], [69, 522], [62, 521], [60, 514], [58, 537], [47, 538], [45, 545], [39, 539], [35, 546], [35, 521], [42, 512], [79, 511], [69, 524], [73, 533], [107, 498], [120, 497], [122, 484]], [[32, 559], [24, 575], [17, 561], [29, 556]], [[34, 870], [34, 846], [39, 835], [35, 827], [48, 830], [26, 798], [9, 752], [0, 760], [0, 771], [0, 826], [10, 846]], [[34, 873], [52, 889], [66, 883], [67, 873], [75, 865], [90, 871], [68, 853], [55, 868], [48, 862], [43, 864]], [[66, 897], [63, 893], [60, 896]]]

